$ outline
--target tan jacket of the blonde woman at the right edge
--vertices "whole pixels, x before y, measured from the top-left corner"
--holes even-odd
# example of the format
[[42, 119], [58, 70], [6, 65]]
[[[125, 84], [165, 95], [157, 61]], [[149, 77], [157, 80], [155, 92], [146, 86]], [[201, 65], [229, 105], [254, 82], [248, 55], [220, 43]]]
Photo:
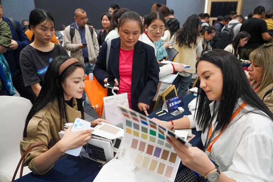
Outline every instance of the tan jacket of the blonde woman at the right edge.
[[[255, 80], [251, 81], [251, 87], [255, 90], [256, 88], [260, 87], [260, 82], [256, 82]], [[265, 87], [260, 94], [258, 95], [260, 99], [263, 99], [266, 92], [268, 92], [271, 88], [273, 88], [273, 83]], [[265, 96], [265, 99], [263, 99], [265, 105], [268, 107], [268, 109], [273, 113], [273, 92]]]

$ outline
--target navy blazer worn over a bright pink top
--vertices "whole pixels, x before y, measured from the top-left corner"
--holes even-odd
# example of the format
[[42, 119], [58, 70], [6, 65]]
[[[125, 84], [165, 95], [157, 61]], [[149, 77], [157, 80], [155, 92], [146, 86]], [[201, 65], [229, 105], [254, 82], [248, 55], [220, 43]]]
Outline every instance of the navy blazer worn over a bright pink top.
[[[120, 38], [111, 40], [111, 48], [108, 60], [108, 72], [106, 69], [107, 42], [102, 44], [97, 57], [96, 66], [94, 67], [94, 76], [104, 87], [104, 79], [109, 75], [114, 76], [120, 83], [119, 74], [119, 52]], [[144, 114], [137, 107], [138, 102], [148, 104], [152, 111], [152, 101], [157, 91], [159, 67], [154, 54], [154, 48], [141, 41], [135, 44], [132, 83], [131, 83], [131, 104], [132, 109]], [[108, 96], [113, 95], [111, 89], [108, 89]]]

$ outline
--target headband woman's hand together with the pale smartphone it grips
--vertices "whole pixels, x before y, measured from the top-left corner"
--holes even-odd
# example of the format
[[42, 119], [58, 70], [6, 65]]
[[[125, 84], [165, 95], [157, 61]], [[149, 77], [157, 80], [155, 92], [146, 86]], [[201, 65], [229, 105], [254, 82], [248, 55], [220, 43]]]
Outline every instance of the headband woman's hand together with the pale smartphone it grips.
[[[86, 137], [84, 139], [81, 139], [81, 141], [77, 141], [79, 138], [74, 138], [73, 141], [68, 141], [69, 143], [67, 143], [67, 145], [72, 144], [72, 143], [73, 143], [72, 145], [78, 145], [79, 143], [87, 142], [87, 141], [83, 141], [83, 140], [86, 140], [86, 138], [87, 138], [87, 140], [89, 139], [88, 137], [90, 137], [90, 134], [89, 134], [90, 132], [88, 131], [88, 129], [90, 129], [90, 126], [91, 126], [90, 122], [82, 120], [80, 118], [76, 118], [73, 123], [73, 126], [71, 128], [71, 131], [72, 132], [81, 132], [81, 131], [86, 130], [87, 132], [84, 134], [84, 135], [86, 135]], [[92, 131], [92, 130], [90, 130], [90, 131]], [[73, 133], [73, 135], [74, 134], [76, 134], [76, 133]], [[79, 137], [79, 136], [76, 134], [76, 137]], [[64, 138], [66, 138], [65, 135], [63, 136], [62, 139], [64, 139]], [[91, 139], [91, 137], [90, 137], [90, 139]], [[75, 142], [77, 142], [77, 144]], [[67, 154], [70, 154], [73, 156], [79, 156], [80, 152], [82, 150], [82, 147], [83, 146], [80, 146], [80, 147], [77, 147], [74, 149], [70, 149], [70, 150], [65, 151], [64, 153], [67, 153]]]

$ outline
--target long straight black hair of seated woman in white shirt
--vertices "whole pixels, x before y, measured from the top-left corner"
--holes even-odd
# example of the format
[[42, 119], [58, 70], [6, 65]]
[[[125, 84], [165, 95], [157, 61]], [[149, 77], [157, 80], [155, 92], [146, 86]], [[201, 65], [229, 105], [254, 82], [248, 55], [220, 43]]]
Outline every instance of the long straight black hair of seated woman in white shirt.
[[[263, 101], [257, 96], [242, 69], [237, 57], [224, 50], [206, 51], [196, 62], [196, 69], [201, 61], [208, 61], [219, 67], [223, 74], [222, 99], [216, 119], [216, 130], [223, 129], [230, 121], [233, 110], [236, 107], [238, 98], [242, 98], [252, 110], [242, 110], [241, 112], [254, 112], [260, 115], [267, 115], [273, 120], [273, 114], [265, 106]], [[200, 84], [200, 81], [198, 81]], [[211, 112], [209, 104], [212, 102], [200, 87], [198, 88], [195, 117], [197, 124], [201, 126], [204, 133], [210, 126]], [[197, 103], [196, 102], [196, 103]], [[262, 112], [264, 113], [262, 113]]]

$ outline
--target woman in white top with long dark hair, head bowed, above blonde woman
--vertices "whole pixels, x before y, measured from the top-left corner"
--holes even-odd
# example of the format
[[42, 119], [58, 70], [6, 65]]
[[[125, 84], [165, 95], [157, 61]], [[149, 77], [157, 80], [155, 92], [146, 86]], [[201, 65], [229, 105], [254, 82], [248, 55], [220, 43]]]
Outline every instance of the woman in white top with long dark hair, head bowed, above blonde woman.
[[[249, 63], [249, 60], [240, 59], [241, 48], [246, 45], [249, 38], [249, 33], [245, 31], [239, 32], [238, 35], [235, 37], [234, 41], [231, 44], [227, 45], [224, 50], [234, 54], [238, 58], [238, 60], [240, 60], [241, 64]], [[236, 47], [236, 51], [234, 47]]]

